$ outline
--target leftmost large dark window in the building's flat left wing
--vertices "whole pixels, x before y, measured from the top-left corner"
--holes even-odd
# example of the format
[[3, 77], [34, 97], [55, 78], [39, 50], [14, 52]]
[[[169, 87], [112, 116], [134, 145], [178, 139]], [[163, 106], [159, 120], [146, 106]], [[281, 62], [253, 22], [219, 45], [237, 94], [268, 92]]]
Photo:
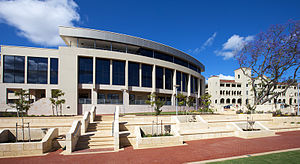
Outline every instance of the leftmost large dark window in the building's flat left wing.
[[24, 83], [25, 57], [3, 56], [3, 82]]

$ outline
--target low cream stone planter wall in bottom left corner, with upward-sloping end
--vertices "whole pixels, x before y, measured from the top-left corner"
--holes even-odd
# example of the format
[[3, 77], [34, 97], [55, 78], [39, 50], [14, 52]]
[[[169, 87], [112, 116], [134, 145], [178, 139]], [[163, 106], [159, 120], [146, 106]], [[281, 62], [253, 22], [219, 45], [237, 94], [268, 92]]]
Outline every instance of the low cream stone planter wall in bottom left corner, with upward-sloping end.
[[0, 157], [41, 155], [52, 149], [53, 140], [58, 136], [58, 129], [51, 128], [40, 142], [1, 143]]

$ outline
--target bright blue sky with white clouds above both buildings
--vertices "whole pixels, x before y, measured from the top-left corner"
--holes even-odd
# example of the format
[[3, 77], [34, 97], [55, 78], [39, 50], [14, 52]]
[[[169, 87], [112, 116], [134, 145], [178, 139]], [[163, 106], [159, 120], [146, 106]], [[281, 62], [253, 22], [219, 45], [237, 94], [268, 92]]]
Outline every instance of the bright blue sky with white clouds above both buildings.
[[205, 65], [206, 78], [233, 76], [233, 50], [289, 19], [300, 19], [299, 0], [0, 0], [0, 45], [56, 48], [58, 25], [86, 27], [187, 52]]

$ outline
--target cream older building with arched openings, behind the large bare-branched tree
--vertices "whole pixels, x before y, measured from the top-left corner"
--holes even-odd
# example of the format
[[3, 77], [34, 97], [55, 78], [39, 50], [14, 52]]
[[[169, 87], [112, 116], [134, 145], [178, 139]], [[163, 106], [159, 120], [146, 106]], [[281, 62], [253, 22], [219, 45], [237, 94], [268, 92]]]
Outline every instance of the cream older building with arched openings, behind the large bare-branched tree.
[[[251, 69], [245, 69], [245, 72], [251, 75]], [[212, 96], [212, 107], [221, 111], [224, 110], [224, 107], [246, 110], [246, 105], [254, 102], [253, 90], [249, 82], [250, 78], [244, 75], [240, 68], [234, 71], [234, 80], [224, 80], [218, 76], [208, 78], [206, 92]], [[261, 87], [260, 84], [255, 85]], [[280, 92], [285, 88], [286, 85], [282, 83], [276, 86], [274, 92]], [[290, 109], [294, 109], [297, 105], [297, 86], [291, 86], [285, 94], [281, 94], [271, 102], [258, 106], [257, 110], [272, 111], [282, 108], [284, 104], [288, 105]]]

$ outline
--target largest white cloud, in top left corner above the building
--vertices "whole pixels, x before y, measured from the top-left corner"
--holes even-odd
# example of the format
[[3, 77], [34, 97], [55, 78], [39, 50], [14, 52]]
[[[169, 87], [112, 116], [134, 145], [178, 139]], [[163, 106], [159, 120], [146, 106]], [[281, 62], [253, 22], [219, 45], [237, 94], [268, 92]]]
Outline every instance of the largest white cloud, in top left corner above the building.
[[73, 0], [0, 0], [0, 20], [33, 43], [57, 46], [63, 44], [58, 26], [74, 26], [77, 8]]

